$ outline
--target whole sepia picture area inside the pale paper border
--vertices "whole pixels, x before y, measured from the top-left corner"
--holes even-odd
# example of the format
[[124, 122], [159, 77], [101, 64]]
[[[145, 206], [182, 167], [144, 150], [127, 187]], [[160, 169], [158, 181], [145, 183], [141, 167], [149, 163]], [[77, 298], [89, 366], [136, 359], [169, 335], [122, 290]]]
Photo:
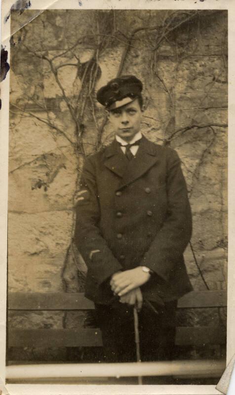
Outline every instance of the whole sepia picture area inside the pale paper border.
[[15, 4], [6, 383], [215, 388], [228, 10]]

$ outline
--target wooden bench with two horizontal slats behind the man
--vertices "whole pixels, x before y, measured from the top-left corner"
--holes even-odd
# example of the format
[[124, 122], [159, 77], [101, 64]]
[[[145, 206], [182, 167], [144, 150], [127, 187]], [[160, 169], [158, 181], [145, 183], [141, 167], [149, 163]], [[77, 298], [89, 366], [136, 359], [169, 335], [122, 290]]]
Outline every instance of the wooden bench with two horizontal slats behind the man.
[[[179, 309], [222, 308], [227, 306], [225, 291], [192, 291], [178, 302]], [[9, 311], [93, 310], [94, 305], [82, 293], [9, 293]], [[226, 343], [221, 326], [177, 327], [176, 345]], [[9, 327], [8, 347], [97, 347], [102, 346], [99, 328], [18, 329]]]

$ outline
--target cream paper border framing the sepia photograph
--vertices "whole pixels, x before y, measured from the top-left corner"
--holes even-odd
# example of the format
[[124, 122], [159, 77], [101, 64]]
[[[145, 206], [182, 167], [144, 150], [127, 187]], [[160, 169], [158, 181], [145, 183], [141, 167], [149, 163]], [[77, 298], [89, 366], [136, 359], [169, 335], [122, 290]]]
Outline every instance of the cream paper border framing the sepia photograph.
[[[10, 58], [10, 20], [4, 23], [14, 1], [2, 0], [1, 44]], [[82, 3], [82, 5], [81, 5]], [[229, 19], [229, 270], [228, 270], [228, 319], [227, 364], [235, 354], [235, 4], [232, 0], [31, 0], [30, 9], [221, 9], [228, 10]], [[6, 350], [6, 286], [7, 286], [7, 183], [8, 183], [8, 113], [9, 73], [1, 83], [0, 111], [0, 389], [10, 395], [96, 395], [96, 394], [146, 394], [146, 395], [214, 395], [221, 394], [213, 385], [5, 385]], [[40, 367], [39, 367], [40, 368]]]

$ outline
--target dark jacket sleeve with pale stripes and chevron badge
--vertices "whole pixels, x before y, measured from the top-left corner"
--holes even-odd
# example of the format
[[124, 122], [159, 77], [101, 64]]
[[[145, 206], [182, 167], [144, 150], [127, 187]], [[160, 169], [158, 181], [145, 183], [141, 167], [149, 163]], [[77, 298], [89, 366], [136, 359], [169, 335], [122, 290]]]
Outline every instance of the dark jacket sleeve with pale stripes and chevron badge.
[[98, 285], [122, 269], [99, 230], [100, 207], [95, 166], [88, 158], [83, 166], [77, 195], [74, 242], [89, 274]]

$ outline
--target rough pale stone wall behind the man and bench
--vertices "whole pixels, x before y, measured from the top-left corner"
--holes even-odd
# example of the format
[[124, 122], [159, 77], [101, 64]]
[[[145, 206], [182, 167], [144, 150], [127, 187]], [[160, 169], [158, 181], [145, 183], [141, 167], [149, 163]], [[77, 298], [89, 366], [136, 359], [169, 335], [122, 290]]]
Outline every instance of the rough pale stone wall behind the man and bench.
[[[12, 31], [33, 12], [12, 12]], [[144, 83], [143, 133], [176, 149], [182, 160], [194, 215], [185, 252], [193, 286], [225, 290], [227, 12], [46, 10], [11, 44], [9, 291], [83, 290], [85, 265], [71, 244], [74, 198], [83, 158], [113, 138], [95, 92], [118, 72]], [[223, 309], [188, 310], [179, 324], [225, 325], [225, 315]], [[11, 313], [9, 325], [94, 322], [87, 313]], [[63, 348], [18, 353], [21, 359], [68, 357]], [[221, 356], [218, 347], [189, 356], [210, 353]]]

